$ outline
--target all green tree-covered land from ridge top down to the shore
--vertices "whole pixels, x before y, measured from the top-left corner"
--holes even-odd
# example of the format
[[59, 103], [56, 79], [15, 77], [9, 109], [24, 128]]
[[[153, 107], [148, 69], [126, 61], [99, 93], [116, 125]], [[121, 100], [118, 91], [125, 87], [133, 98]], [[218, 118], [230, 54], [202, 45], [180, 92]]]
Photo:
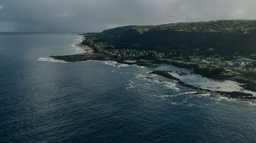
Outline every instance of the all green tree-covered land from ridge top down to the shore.
[[[123, 26], [85, 37], [83, 44], [112, 57], [153, 60], [214, 78], [256, 77], [256, 57], [250, 56], [256, 54], [256, 20]], [[240, 56], [252, 60], [230, 65]]]

